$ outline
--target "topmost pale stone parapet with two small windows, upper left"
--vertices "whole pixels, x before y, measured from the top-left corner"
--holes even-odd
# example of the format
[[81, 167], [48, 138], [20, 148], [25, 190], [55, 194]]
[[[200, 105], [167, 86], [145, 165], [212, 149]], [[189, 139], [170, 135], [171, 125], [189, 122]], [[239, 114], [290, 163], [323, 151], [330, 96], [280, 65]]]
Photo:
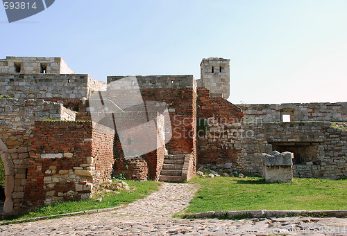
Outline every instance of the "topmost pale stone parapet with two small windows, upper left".
[[60, 57], [6, 57], [0, 59], [0, 73], [74, 74]]

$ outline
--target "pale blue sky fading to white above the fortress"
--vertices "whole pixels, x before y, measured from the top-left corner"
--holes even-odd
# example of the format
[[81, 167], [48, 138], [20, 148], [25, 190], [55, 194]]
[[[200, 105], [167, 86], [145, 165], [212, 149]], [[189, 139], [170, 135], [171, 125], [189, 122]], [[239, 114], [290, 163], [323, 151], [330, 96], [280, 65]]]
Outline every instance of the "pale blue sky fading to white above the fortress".
[[62, 57], [76, 73], [200, 78], [230, 58], [230, 102], [347, 101], [346, 0], [56, 0], [9, 24], [0, 58]]

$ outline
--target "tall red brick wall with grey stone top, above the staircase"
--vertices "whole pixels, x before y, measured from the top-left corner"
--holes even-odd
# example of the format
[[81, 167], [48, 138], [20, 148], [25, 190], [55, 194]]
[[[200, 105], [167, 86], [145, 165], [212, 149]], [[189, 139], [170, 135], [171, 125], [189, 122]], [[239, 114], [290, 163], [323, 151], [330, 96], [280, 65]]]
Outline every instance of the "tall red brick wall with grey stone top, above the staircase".
[[[108, 94], [113, 91], [129, 89], [131, 81], [119, 83], [122, 76], [108, 77]], [[155, 75], [134, 76], [137, 80], [144, 103], [165, 102], [169, 109], [172, 126], [172, 138], [167, 143], [171, 154], [192, 154], [196, 149], [196, 141], [192, 134], [196, 126], [196, 81], [193, 75]], [[115, 82], [116, 83], [112, 83]], [[165, 125], [165, 127], [169, 127]]]

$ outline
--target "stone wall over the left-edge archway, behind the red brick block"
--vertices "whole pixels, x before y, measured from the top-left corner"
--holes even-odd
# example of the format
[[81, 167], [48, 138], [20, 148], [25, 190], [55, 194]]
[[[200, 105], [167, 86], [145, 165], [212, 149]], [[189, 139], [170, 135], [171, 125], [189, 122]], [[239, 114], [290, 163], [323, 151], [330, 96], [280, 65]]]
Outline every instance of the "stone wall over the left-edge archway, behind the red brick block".
[[0, 99], [0, 152], [6, 170], [4, 213], [22, 208], [35, 120], [74, 120], [74, 111], [44, 100]]

